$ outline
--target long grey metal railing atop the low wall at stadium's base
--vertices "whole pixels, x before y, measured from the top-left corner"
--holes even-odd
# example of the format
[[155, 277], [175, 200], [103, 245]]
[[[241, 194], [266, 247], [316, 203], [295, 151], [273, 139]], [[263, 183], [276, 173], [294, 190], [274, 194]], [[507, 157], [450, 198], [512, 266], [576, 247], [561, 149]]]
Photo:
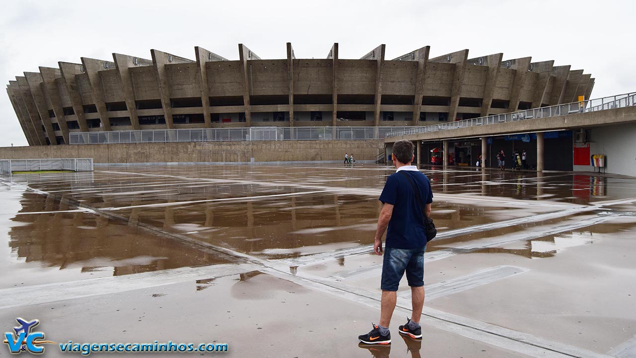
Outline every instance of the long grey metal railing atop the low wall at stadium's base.
[[382, 140], [396, 129], [411, 127], [245, 127], [141, 129], [71, 132], [70, 144], [167, 143], [195, 141]]

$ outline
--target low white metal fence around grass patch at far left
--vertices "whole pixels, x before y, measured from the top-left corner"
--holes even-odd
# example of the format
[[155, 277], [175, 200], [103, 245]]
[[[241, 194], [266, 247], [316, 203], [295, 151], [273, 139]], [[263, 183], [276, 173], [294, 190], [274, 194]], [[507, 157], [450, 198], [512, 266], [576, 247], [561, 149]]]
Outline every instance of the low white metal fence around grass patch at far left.
[[0, 160], [0, 174], [11, 174], [15, 171], [46, 170], [93, 171], [93, 159], [69, 158]]

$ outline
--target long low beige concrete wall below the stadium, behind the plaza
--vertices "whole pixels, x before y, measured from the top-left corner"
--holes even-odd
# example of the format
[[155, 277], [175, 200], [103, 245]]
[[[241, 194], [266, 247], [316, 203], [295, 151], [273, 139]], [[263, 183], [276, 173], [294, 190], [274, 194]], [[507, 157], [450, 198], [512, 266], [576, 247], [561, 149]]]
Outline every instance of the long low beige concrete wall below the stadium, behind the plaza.
[[375, 160], [382, 140], [120, 143], [2, 147], [0, 159], [93, 158], [95, 163]]

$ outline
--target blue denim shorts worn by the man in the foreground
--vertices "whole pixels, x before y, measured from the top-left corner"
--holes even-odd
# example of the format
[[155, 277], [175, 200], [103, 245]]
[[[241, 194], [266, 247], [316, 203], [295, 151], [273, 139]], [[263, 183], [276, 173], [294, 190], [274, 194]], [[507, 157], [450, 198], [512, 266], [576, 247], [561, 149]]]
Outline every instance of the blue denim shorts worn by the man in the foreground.
[[383, 291], [397, 291], [404, 271], [406, 271], [406, 280], [409, 286], [424, 286], [425, 251], [426, 246], [418, 248], [385, 247], [380, 288]]

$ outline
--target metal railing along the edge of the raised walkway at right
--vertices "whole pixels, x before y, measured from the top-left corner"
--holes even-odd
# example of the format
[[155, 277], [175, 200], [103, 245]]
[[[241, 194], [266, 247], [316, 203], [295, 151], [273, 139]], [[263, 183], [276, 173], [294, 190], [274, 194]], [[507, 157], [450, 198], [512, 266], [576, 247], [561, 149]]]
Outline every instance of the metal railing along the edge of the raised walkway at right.
[[533, 108], [531, 110], [520, 110], [511, 113], [504, 113], [501, 115], [489, 115], [488, 117], [457, 120], [455, 122], [427, 125], [424, 127], [414, 127], [401, 131], [389, 132], [387, 133], [387, 137], [408, 136], [409, 134], [446, 131], [448, 129], [474, 127], [476, 125], [516, 122], [518, 120], [528, 120], [532, 118], [557, 117], [574, 113], [611, 110], [613, 108], [623, 108], [629, 106], [636, 106], [636, 92], [619, 94], [617, 96], [611, 97], [602, 97], [598, 99], [588, 99], [587, 101], [581, 102], [556, 104], [555, 106]]

